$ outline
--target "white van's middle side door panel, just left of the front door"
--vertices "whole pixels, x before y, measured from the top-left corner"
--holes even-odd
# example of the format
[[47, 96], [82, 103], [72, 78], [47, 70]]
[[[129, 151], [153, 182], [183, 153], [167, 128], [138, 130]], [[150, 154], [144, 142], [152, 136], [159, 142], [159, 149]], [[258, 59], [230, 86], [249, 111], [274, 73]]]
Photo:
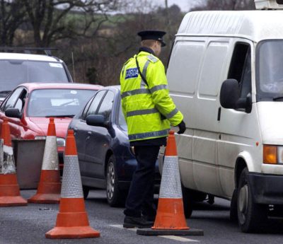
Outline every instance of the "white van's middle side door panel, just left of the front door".
[[218, 94], [219, 83], [226, 69], [230, 38], [209, 37], [195, 97], [196, 124], [192, 137], [192, 158], [197, 190], [221, 195], [217, 170], [216, 141], [219, 136]]

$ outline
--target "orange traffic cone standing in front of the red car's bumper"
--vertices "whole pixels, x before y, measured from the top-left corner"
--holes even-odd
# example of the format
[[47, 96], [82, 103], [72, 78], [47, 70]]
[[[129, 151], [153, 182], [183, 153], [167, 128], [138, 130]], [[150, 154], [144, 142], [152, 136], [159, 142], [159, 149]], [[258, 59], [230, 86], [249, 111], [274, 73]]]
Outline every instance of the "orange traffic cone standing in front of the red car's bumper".
[[48, 124], [45, 151], [43, 155], [40, 182], [37, 193], [28, 202], [56, 204], [60, 202], [60, 172], [57, 153], [57, 138], [54, 118]]

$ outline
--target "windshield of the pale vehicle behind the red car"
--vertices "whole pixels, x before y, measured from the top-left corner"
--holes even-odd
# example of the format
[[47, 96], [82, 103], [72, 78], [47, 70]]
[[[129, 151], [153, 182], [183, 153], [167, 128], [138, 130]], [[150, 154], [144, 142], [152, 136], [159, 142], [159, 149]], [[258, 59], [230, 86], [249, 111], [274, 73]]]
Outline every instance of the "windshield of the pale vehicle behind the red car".
[[59, 62], [0, 60], [0, 93], [12, 91], [25, 82], [67, 83], [69, 79]]

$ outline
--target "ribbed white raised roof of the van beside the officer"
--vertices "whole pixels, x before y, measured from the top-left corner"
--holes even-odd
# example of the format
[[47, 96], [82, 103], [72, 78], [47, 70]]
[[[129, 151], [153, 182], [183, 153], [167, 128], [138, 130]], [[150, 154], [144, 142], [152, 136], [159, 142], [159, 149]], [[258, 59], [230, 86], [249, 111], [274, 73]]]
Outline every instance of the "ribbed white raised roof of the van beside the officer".
[[233, 36], [254, 42], [283, 39], [283, 11], [195, 11], [185, 15], [176, 36]]

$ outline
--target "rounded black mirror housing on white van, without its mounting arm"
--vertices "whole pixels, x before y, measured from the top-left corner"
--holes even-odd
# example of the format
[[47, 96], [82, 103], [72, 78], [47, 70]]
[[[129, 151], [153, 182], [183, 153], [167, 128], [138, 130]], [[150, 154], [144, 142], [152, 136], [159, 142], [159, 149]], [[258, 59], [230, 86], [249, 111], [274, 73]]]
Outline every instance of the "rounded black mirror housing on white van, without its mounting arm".
[[240, 88], [238, 81], [227, 79], [221, 85], [220, 104], [223, 108], [236, 108], [236, 103], [240, 98]]

